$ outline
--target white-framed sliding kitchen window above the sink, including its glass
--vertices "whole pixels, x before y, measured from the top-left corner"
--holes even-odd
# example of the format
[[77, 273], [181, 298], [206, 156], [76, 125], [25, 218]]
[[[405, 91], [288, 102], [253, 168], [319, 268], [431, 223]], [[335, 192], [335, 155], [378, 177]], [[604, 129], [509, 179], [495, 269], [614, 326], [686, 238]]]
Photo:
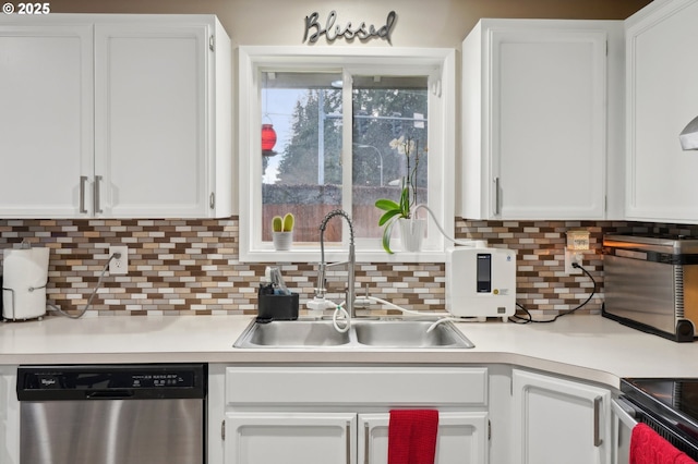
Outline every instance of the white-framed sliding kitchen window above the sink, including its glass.
[[[316, 261], [320, 223], [348, 211], [359, 261], [443, 261], [433, 220], [420, 253], [386, 254], [377, 198], [399, 198], [399, 142], [419, 147], [418, 203], [454, 224], [454, 52], [443, 49], [241, 47], [239, 102], [240, 259]], [[272, 125], [276, 144], [262, 142]], [[275, 251], [272, 218], [296, 216], [293, 245]], [[425, 217], [422, 209], [420, 217]], [[325, 252], [345, 259], [349, 231], [328, 223]], [[393, 249], [399, 251], [395, 228]]]

